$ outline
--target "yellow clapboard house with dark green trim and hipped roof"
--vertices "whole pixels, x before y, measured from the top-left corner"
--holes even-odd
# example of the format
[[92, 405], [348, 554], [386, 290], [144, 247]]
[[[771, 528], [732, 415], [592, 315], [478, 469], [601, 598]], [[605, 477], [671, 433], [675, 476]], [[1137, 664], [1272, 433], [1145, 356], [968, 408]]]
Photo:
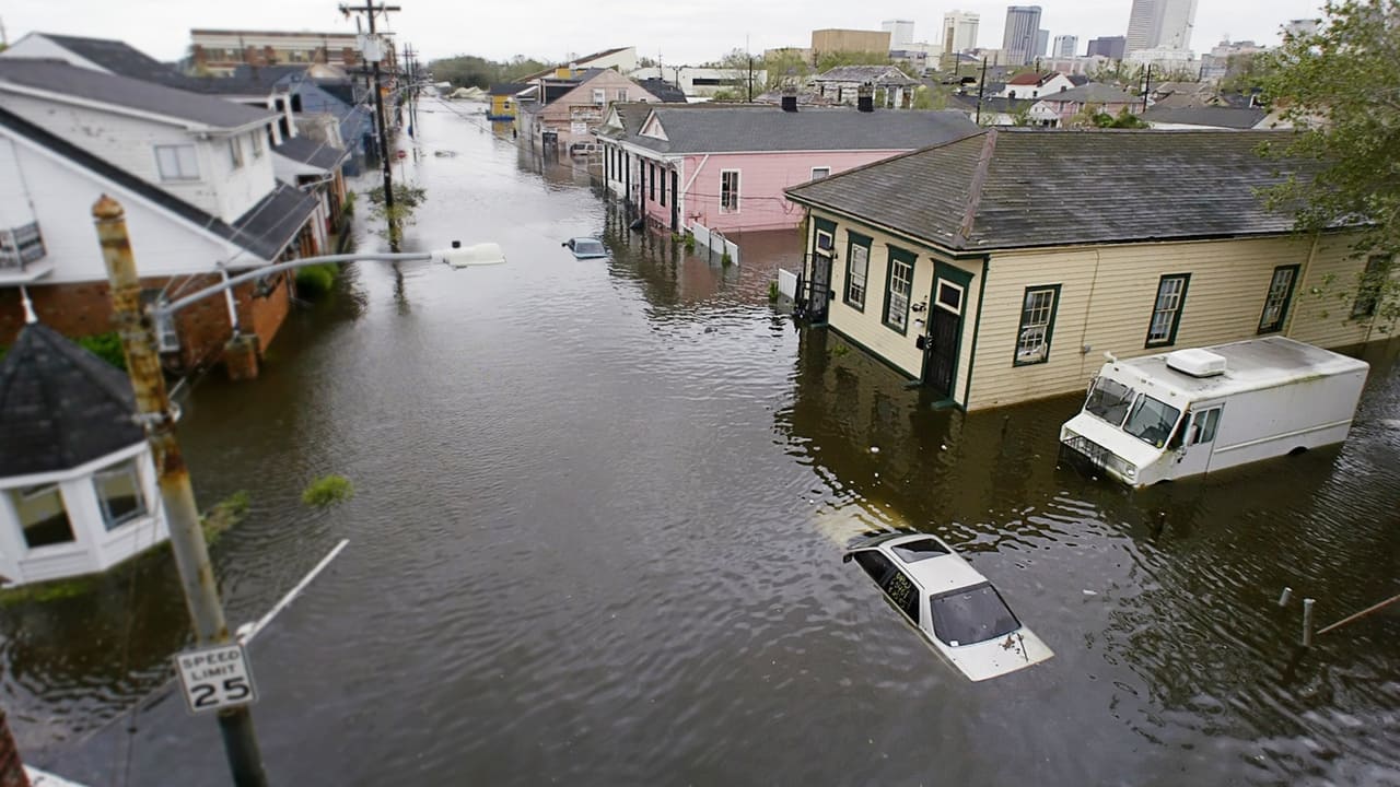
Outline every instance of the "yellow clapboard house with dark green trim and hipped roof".
[[993, 129], [791, 188], [799, 304], [969, 410], [1082, 391], [1105, 351], [1389, 337], [1357, 281], [1390, 260], [1257, 196], [1278, 133]]

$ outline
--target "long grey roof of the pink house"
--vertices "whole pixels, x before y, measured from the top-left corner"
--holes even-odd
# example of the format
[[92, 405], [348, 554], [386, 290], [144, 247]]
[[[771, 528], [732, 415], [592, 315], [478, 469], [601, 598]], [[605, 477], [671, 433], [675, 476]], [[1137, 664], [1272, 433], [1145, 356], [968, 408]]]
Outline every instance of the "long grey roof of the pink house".
[[911, 150], [965, 137], [977, 126], [958, 111], [876, 111], [851, 108], [784, 112], [778, 106], [652, 105], [666, 140], [627, 132], [599, 132], [657, 153], [760, 153], [783, 150]]

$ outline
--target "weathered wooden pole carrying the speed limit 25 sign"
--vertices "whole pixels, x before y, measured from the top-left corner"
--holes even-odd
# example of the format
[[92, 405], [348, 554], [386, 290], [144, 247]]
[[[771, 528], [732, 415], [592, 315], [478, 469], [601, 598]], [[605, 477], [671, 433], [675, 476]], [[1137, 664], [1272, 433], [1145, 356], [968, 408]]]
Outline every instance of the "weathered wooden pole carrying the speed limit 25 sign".
[[[195, 623], [200, 646], [228, 644], [228, 623], [224, 605], [214, 583], [214, 569], [209, 562], [209, 546], [199, 525], [199, 508], [189, 485], [189, 471], [179, 443], [175, 441], [175, 415], [165, 391], [160, 353], [155, 350], [155, 330], [150, 315], [141, 309], [141, 280], [132, 256], [132, 241], [126, 234], [126, 211], [109, 196], [92, 206], [97, 235], [102, 242], [108, 283], [112, 288], [112, 319], [126, 351], [126, 368], [136, 392], [137, 417], [146, 427], [146, 440], [155, 459], [161, 504], [169, 525], [171, 552], [179, 569], [185, 605]], [[266, 787], [253, 717], [246, 704], [218, 711], [218, 730], [224, 737], [228, 766], [238, 787]]]

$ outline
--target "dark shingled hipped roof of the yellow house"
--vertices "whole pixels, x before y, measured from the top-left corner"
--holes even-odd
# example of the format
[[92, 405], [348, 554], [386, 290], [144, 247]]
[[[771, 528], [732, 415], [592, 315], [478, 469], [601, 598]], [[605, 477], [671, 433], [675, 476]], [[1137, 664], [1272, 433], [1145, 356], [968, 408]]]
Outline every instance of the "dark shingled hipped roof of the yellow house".
[[1277, 234], [1278, 133], [993, 129], [787, 193], [953, 252]]

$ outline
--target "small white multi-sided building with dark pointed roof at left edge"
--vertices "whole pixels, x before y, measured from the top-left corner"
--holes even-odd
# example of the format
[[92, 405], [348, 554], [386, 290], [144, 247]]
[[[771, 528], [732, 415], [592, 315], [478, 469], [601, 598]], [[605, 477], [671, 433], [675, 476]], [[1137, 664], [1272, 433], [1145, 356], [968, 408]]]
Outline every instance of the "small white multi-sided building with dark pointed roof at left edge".
[[29, 323], [0, 361], [0, 584], [106, 570], [169, 536], [116, 367]]

